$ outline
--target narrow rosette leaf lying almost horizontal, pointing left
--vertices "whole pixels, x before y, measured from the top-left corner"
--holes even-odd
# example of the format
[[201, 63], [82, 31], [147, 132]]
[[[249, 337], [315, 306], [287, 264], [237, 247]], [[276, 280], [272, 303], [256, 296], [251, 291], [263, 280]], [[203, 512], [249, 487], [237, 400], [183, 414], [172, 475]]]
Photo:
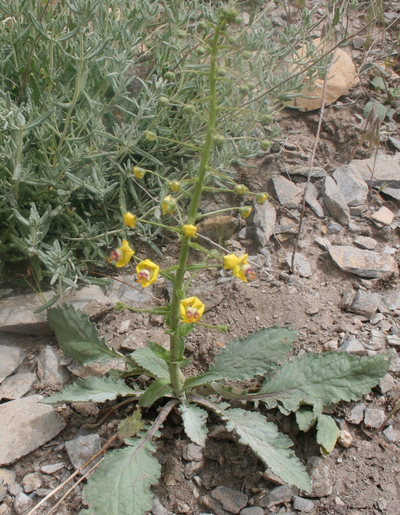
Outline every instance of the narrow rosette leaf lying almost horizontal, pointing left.
[[90, 376], [77, 379], [72, 385], [65, 386], [59, 393], [46, 397], [45, 404], [62, 404], [63, 402], [105, 402], [134, 395], [135, 390], [129, 388], [123, 379], [113, 377]]

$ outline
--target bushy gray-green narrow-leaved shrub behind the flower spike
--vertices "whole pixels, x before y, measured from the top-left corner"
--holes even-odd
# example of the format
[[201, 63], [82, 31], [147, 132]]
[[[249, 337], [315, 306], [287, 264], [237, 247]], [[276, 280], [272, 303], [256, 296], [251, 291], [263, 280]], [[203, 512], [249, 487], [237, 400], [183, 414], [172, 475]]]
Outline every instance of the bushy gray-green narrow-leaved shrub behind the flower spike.
[[[123, 213], [157, 208], [166, 193], [154, 175], [140, 188], [132, 166], [166, 179], [196, 175], [192, 145], [202, 144], [208, 94], [207, 55], [196, 47], [216, 11], [198, 0], [0, 0], [3, 269], [28, 261], [36, 280], [45, 276], [57, 295], [78, 281], [93, 282], [90, 267], [104, 266], [107, 248], [128, 235]], [[267, 14], [255, 11], [251, 25], [236, 26], [234, 40], [221, 47], [226, 73], [218, 81], [216, 130], [250, 139], [215, 148], [214, 169], [229, 172], [232, 162], [260, 153], [257, 139], [274, 140], [275, 125], [257, 132], [255, 124], [302, 86], [282, 63], [297, 59], [307, 28], [278, 33]], [[187, 37], [178, 37], [182, 31]], [[250, 82], [269, 93], [244, 93], [240, 87]], [[187, 114], [187, 104], [199, 116]], [[239, 106], [246, 109], [234, 111]], [[156, 142], [146, 141], [146, 130], [159, 136]], [[206, 183], [222, 185], [211, 172]], [[153, 219], [159, 216], [155, 209]], [[139, 223], [135, 231], [158, 251], [158, 228]]]

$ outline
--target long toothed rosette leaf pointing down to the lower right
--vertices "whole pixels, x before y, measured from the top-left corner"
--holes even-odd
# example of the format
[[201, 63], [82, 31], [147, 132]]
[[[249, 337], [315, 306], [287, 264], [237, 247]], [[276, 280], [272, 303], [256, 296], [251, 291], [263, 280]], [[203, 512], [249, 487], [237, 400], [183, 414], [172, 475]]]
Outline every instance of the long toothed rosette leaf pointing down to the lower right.
[[227, 409], [224, 413], [228, 418], [228, 431], [234, 431], [240, 443], [248, 445], [274, 474], [289, 485], [307, 492], [311, 490], [306, 468], [290, 449], [293, 442], [288, 436], [279, 433], [260, 413], [239, 408]]

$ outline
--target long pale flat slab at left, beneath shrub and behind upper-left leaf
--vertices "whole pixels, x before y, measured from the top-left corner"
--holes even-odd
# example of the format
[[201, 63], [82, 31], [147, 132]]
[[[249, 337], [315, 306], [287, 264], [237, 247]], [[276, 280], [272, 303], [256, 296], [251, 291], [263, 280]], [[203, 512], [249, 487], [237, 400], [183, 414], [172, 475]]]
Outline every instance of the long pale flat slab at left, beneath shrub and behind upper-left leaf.
[[[135, 284], [136, 276], [124, 276], [124, 281]], [[83, 285], [78, 289], [68, 288], [65, 290], [61, 299], [54, 305], [63, 302], [72, 304], [75, 308], [89, 313], [92, 319], [98, 318], [104, 311], [112, 307], [116, 302], [123, 301], [127, 304], [140, 306], [149, 302], [146, 291], [134, 289], [126, 284], [113, 281], [109, 286]], [[44, 298], [49, 300], [53, 293], [47, 291]], [[46, 312], [34, 314], [36, 308], [42, 303], [36, 294], [18, 295], [0, 301], [0, 331], [12, 331], [23, 334], [45, 335], [53, 334], [54, 331], [49, 326], [46, 319]]]

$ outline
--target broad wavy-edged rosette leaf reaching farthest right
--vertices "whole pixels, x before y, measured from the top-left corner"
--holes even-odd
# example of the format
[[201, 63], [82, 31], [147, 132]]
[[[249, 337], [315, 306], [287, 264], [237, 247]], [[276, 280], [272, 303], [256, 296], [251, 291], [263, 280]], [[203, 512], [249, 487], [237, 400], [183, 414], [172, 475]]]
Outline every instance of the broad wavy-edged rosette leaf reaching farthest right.
[[255, 396], [268, 407], [282, 405], [296, 411], [302, 404], [314, 406], [316, 413], [339, 401], [360, 399], [376, 386], [389, 367], [386, 354], [351, 356], [346, 352], [305, 354], [293, 358], [268, 377]]

